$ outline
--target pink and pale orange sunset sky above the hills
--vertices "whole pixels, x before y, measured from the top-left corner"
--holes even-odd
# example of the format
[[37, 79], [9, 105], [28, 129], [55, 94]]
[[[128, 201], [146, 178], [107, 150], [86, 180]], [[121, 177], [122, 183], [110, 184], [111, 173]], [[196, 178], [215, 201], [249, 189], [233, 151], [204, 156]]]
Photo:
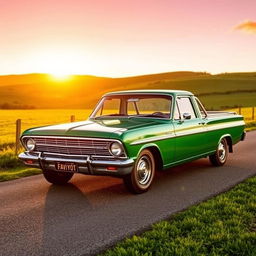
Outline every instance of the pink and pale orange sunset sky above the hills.
[[0, 0], [0, 74], [256, 71], [255, 0]]

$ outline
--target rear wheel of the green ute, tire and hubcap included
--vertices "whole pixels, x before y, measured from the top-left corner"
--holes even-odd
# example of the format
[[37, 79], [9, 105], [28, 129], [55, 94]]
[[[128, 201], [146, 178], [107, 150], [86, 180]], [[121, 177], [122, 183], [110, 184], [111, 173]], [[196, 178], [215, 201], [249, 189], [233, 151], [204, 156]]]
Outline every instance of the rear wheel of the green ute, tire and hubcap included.
[[209, 160], [212, 165], [214, 166], [222, 166], [226, 163], [228, 158], [228, 143], [225, 138], [223, 138], [218, 147], [216, 152], [213, 155], [209, 156]]

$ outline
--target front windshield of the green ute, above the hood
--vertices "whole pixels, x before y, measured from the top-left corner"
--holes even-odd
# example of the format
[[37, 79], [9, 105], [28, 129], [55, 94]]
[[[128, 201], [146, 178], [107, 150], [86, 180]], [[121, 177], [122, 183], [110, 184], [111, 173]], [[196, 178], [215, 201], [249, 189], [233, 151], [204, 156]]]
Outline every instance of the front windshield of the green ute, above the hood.
[[134, 116], [170, 118], [171, 96], [165, 95], [114, 95], [104, 97], [91, 118]]

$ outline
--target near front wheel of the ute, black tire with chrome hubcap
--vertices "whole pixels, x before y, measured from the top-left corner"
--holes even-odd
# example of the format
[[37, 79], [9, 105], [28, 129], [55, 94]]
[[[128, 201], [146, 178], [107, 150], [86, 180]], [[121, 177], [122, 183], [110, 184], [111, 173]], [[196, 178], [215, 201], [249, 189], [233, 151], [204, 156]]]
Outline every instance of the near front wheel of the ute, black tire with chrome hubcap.
[[132, 172], [123, 178], [126, 188], [141, 194], [150, 188], [155, 176], [155, 160], [151, 151], [143, 150], [135, 162]]

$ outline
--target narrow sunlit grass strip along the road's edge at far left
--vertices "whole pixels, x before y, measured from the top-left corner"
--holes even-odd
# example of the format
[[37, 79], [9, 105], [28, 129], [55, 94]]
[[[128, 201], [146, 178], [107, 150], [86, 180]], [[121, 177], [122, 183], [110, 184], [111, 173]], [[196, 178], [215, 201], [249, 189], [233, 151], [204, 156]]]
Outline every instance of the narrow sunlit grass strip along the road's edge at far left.
[[35, 168], [17, 167], [12, 170], [0, 169], [0, 182], [14, 180], [21, 177], [27, 177], [35, 174], [40, 174], [40, 173], [42, 173], [42, 171], [40, 169], [35, 169]]

